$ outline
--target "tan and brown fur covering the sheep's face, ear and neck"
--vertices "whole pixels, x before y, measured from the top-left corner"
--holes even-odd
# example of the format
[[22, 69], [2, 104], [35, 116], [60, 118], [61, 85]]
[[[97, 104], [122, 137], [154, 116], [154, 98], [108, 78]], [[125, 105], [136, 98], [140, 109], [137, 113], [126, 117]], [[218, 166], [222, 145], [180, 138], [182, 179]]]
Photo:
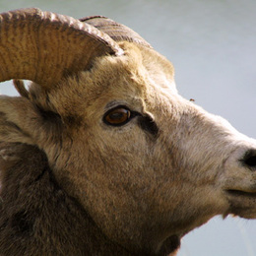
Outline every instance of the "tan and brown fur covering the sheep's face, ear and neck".
[[[32, 235], [21, 245], [28, 255], [174, 254], [180, 237], [216, 215], [256, 217], [255, 198], [226, 193], [255, 193], [255, 172], [239, 162], [255, 141], [178, 96], [159, 53], [119, 45], [124, 55], [96, 58], [50, 90], [32, 84], [26, 97], [1, 98], [1, 141], [22, 143], [19, 160], [0, 163], [3, 217], [15, 221], [1, 221], [6, 255], [23, 253], [11, 238], [20, 229], [20, 242]], [[116, 105], [140, 115], [109, 126], [102, 117]]]

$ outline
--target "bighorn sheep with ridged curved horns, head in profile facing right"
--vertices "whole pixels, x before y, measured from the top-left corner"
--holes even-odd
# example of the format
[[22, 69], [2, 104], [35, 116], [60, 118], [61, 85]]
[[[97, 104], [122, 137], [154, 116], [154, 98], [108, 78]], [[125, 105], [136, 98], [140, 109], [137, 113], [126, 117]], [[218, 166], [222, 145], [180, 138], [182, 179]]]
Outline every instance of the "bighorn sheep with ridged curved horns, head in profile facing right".
[[0, 97], [1, 255], [175, 255], [216, 215], [256, 218], [256, 141], [179, 96], [139, 34], [23, 9], [0, 38], [21, 95]]

